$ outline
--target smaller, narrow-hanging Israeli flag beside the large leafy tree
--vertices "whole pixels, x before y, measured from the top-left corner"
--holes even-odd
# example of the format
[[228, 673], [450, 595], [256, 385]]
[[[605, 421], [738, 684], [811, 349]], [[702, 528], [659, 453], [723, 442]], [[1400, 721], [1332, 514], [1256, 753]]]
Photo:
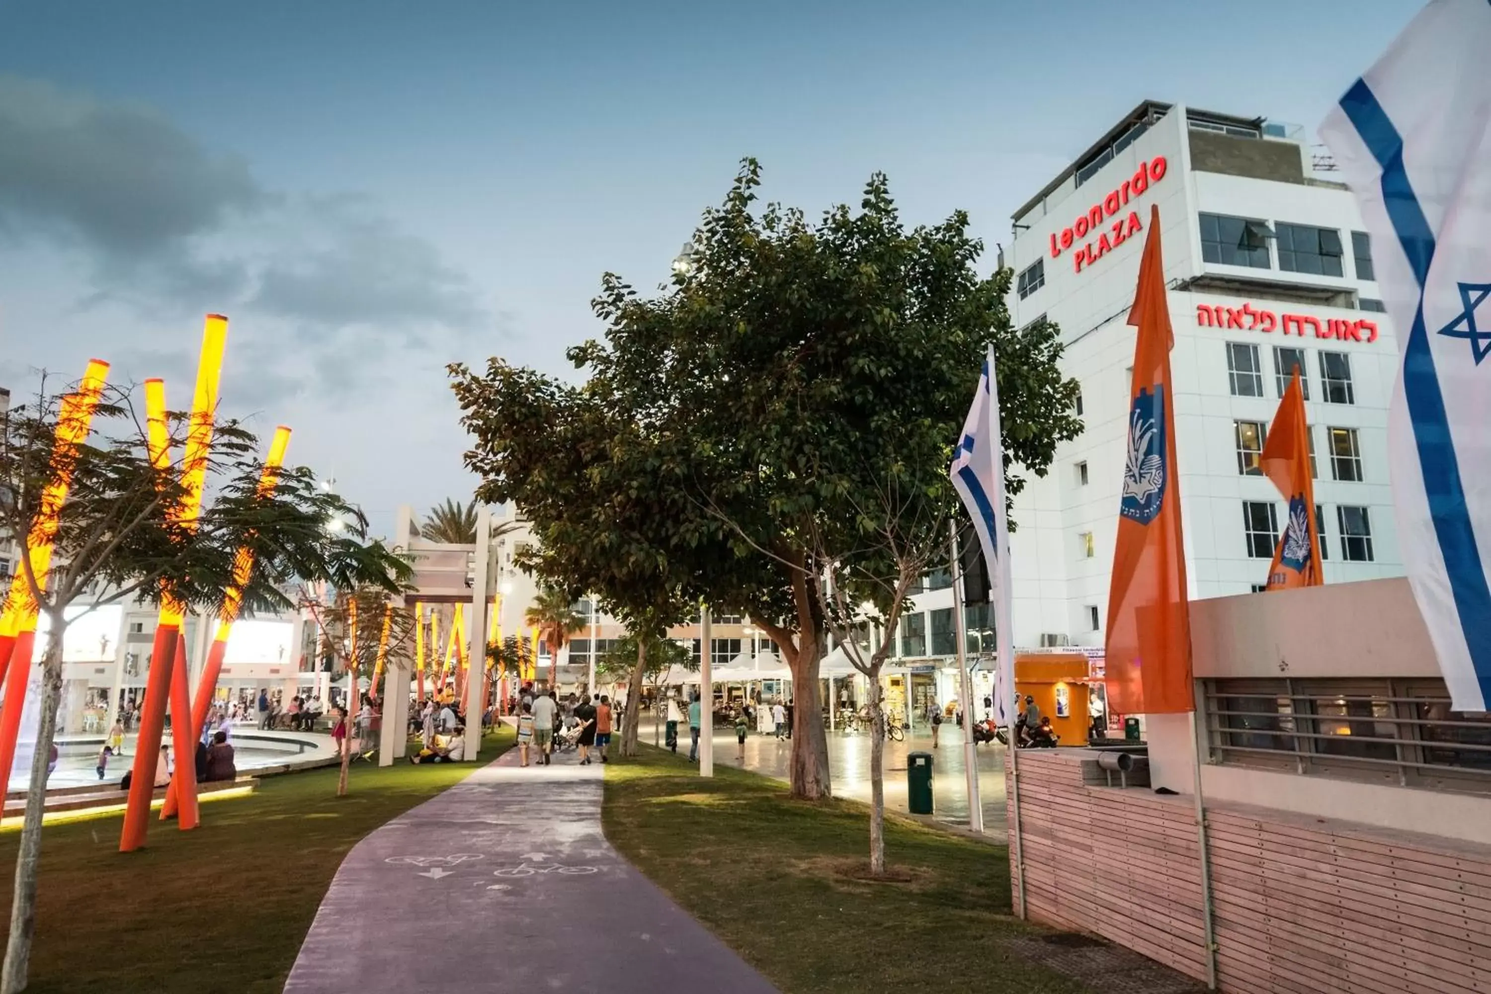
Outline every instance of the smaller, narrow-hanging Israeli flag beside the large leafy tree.
[[1005, 516], [1005, 447], [999, 431], [999, 383], [994, 377], [994, 349], [990, 346], [984, 371], [978, 377], [974, 405], [968, 410], [963, 432], [953, 453], [953, 489], [963, 499], [974, 532], [989, 563], [990, 599], [994, 604], [994, 642], [999, 660], [994, 669], [994, 723], [1009, 726], [1017, 714], [1014, 686], [1014, 633], [1009, 587], [1009, 526]]

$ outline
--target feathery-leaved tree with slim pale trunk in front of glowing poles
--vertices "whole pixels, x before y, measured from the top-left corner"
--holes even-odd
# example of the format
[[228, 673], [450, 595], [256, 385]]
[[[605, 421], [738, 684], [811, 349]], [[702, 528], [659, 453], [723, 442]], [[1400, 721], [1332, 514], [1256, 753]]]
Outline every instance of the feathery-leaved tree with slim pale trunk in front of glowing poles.
[[[51, 387], [51, 389], [49, 389]], [[76, 386], [67, 393], [76, 392]], [[397, 589], [409, 575], [380, 542], [365, 539], [362, 514], [321, 487], [304, 468], [285, 468], [273, 493], [259, 492], [258, 440], [237, 422], [213, 426], [206, 465], [206, 492], [213, 495], [194, 528], [182, 525], [180, 460], [152, 462], [148, 426], [127, 387], [103, 387], [91, 435], [73, 449], [58, 447], [66, 393], [43, 376], [34, 401], [0, 416], [0, 534], [21, 545], [19, 596], [49, 624], [42, 654], [40, 727], [31, 763], [31, 787], [16, 855], [10, 931], [0, 990], [25, 987], [36, 924], [37, 860], [48, 759], [57, 732], [63, 686], [63, 642], [76, 604], [100, 607], [130, 601], [160, 604], [170, 595], [189, 608], [222, 610], [234, 586], [239, 548], [255, 554], [242, 589], [248, 611], [297, 607], [300, 583], [359, 584]], [[168, 450], [182, 452], [185, 414], [167, 420]], [[72, 486], [57, 508], [55, 551], [45, 577], [33, 568], [33, 542], [45, 541], [34, 525], [54, 501], [48, 487], [64, 471]], [[327, 522], [343, 520], [331, 534]], [[18, 659], [25, 668], [30, 660]], [[154, 750], [152, 750], [154, 751]]]

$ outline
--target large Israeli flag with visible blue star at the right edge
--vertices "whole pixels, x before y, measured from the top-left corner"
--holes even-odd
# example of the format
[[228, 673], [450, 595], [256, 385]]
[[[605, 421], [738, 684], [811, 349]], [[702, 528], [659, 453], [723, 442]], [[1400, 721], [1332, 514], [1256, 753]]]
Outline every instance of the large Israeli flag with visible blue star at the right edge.
[[1433, 0], [1321, 125], [1399, 332], [1399, 547], [1457, 711], [1491, 697], [1488, 52], [1491, 3]]

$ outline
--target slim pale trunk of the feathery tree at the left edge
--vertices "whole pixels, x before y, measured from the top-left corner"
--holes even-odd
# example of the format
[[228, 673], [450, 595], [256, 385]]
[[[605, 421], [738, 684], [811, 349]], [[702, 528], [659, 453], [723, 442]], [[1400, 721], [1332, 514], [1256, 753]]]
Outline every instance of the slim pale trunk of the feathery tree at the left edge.
[[[63, 635], [61, 612], [52, 615], [52, 630], [42, 660], [42, 723], [31, 757], [31, 782], [25, 791], [25, 821], [21, 827], [21, 849], [15, 857], [15, 891], [10, 899], [10, 937], [4, 948], [4, 969], [0, 991], [16, 994], [25, 990], [31, 966], [31, 937], [36, 934], [36, 864], [42, 855], [42, 815], [46, 812], [46, 767], [51, 765], [52, 742], [57, 738], [57, 706], [63, 697]], [[13, 659], [12, 666], [30, 666], [31, 660]]]

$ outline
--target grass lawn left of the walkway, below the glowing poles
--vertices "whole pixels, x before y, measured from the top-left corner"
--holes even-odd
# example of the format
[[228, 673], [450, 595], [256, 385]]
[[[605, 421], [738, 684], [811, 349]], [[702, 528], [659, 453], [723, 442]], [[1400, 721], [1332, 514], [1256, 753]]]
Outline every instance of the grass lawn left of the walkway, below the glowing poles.
[[[486, 738], [483, 762], [511, 745]], [[341, 857], [388, 820], [465, 778], [465, 763], [352, 767], [265, 778], [249, 797], [203, 803], [201, 827], [152, 821], [121, 855], [119, 815], [48, 826], [28, 994], [279, 994]], [[18, 830], [0, 833], [9, 919]]]

